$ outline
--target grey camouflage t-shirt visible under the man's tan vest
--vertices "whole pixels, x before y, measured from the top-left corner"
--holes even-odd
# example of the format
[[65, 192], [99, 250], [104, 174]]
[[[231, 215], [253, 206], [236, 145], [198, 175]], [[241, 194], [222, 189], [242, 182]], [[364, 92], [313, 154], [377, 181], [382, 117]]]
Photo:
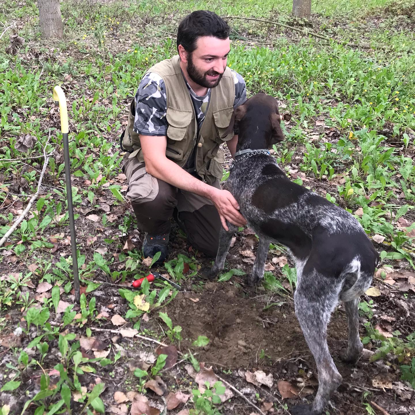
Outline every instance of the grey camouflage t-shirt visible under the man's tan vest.
[[[244, 78], [235, 71], [231, 72], [235, 83], [234, 108], [236, 108], [247, 100], [247, 88]], [[195, 108], [199, 132], [200, 126], [205, 118], [212, 90], [209, 88], [206, 95], [200, 97], [190, 88], [187, 81], [186, 85], [193, 102], [193, 107]], [[137, 93], [135, 94], [134, 131], [149, 136], [160, 137], [166, 135], [168, 127], [166, 111], [167, 99], [164, 81], [157, 73], [147, 72], [141, 80]]]

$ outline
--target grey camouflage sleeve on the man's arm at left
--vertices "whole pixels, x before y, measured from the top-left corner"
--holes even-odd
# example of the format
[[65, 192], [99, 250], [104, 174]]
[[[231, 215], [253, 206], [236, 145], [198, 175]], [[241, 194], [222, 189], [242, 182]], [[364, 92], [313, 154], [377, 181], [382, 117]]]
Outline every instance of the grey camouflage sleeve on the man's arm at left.
[[166, 87], [163, 79], [154, 72], [147, 72], [135, 94], [134, 131], [143, 135], [166, 135], [166, 111]]

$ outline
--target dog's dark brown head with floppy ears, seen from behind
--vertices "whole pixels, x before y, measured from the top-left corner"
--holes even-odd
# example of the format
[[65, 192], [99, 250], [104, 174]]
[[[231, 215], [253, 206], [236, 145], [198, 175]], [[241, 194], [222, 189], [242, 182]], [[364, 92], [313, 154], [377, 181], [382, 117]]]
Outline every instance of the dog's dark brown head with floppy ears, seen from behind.
[[264, 136], [267, 148], [283, 141], [284, 134], [280, 125], [282, 117], [277, 100], [271, 95], [264, 93], [254, 95], [244, 104], [239, 105], [234, 115], [234, 128], [239, 129], [239, 144], [242, 144], [241, 140], [252, 139], [252, 134], [259, 132]]

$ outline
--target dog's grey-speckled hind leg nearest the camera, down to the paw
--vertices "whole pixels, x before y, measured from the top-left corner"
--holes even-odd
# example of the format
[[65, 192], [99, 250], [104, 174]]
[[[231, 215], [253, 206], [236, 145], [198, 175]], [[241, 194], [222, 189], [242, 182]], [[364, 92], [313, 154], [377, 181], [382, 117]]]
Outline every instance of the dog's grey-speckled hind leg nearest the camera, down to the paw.
[[326, 279], [313, 271], [299, 278], [295, 290], [295, 314], [317, 365], [318, 391], [311, 408], [298, 405], [290, 410], [292, 414], [320, 414], [342, 383], [327, 346], [327, 325], [337, 305], [338, 292]]

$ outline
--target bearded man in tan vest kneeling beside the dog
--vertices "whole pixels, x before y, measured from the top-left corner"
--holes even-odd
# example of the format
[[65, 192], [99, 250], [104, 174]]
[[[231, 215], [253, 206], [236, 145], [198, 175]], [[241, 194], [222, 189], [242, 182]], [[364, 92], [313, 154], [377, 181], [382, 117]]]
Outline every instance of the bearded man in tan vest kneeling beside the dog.
[[[178, 55], [144, 75], [132, 100], [122, 145], [127, 196], [144, 256], [168, 254], [171, 217], [193, 247], [215, 256], [226, 221], [246, 224], [231, 193], [222, 190], [220, 144], [232, 156], [238, 141], [233, 110], [246, 100], [243, 78], [227, 67], [230, 28], [213, 12], [198, 10], [178, 27]], [[236, 132], [235, 132], [236, 133]]]

